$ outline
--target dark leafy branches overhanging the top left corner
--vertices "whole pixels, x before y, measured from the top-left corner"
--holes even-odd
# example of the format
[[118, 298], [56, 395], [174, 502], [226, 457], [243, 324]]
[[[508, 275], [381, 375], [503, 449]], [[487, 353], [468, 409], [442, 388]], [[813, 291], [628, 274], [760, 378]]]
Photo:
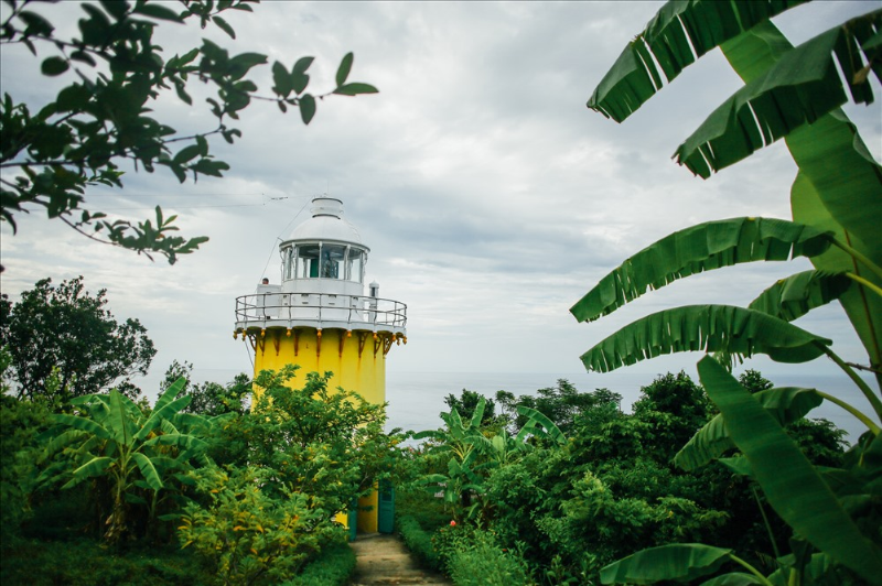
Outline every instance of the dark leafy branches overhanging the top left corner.
[[[352, 53], [341, 61], [335, 87], [325, 94], [306, 91], [313, 57], [301, 57], [290, 65], [275, 62], [271, 94], [261, 95], [252, 69], [266, 65], [267, 55], [233, 55], [204, 39], [201, 46], [166, 56], [155, 44], [153, 33], [161, 23], [183, 28], [195, 21], [202, 29], [212, 24], [236, 39], [226, 14], [251, 12], [257, 0], [82, 3], [84, 15], [71, 35], [61, 34], [50, 20], [57, 9], [35, 11], [29, 0], [4, 2], [0, 46], [22, 44], [42, 59], [44, 76], [64, 75], [71, 82], [36, 111], [9, 94], [0, 100], [0, 170], [4, 171], [0, 220], [10, 223], [13, 231], [17, 214], [44, 208], [49, 218], [60, 218], [89, 238], [151, 259], [162, 254], [174, 263], [179, 254], [192, 252], [207, 238], [175, 236], [175, 216], [163, 216], [159, 207], [155, 219], [111, 220], [87, 208], [87, 189], [121, 187], [123, 164], [149, 173], [166, 167], [182, 183], [189, 174], [193, 181], [200, 175], [222, 176], [229, 165], [214, 159], [208, 138], [219, 134], [233, 143], [241, 137], [229, 124], [252, 100], [275, 102], [282, 112], [295, 108], [309, 123], [316, 98], [377, 91], [368, 84], [348, 82]], [[171, 91], [192, 106], [189, 88], [194, 80], [217, 91], [206, 99], [217, 119], [215, 128], [186, 134], [151, 116], [152, 104]]]

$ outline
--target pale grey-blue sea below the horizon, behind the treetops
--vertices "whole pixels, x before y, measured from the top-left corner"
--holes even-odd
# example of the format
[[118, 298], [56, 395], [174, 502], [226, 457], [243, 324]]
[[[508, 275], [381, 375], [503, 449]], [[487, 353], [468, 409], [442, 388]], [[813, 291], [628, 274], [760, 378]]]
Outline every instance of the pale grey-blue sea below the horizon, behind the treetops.
[[[765, 376], [765, 373], [764, 373]], [[439, 414], [448, 411], [444, 398], [459, 395], [463, 389], [475, 391], [493, 399], [496, 391], [505, 390], [516, 397], [537, 394], [539, 389], [556, 387], [558, 379], [567, 379], [582, 392], [609, 389], [622, 395], [622, 410], [631, 411], [631, 405], [641, 398], [641, 388], [646, 387], [657, 375], [614, 371], [603, 375], [572, 372], [397, 372], [386, 373], [386, 400], [388, 421], [386, 428], [434, 430], [443, 426]], [[869, 402], [860, 390], [845, 376], [766, 376], [776, 387], [806, 387], [821, 390], [845, 400], [864, 413], [871, 413]], [[698, 381], [697, 377], [692, 379]], [[874, 387], [871, 384], [871, 388]], [[865, 431], [863, 424], [841, 408], [825, 401], [808, 414], [809, 419], [826, 419], [837, 427], [848, 432], [849, 443], [857, 441]]]

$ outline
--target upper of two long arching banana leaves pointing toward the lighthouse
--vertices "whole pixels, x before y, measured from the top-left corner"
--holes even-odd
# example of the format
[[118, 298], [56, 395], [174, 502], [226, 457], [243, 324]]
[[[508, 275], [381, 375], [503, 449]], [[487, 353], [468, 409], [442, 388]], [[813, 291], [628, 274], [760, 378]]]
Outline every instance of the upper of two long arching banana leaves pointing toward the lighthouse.
[[730, 218], [678, 230], [644, 248], [604, 276], [570, 313], [594, 321], [649, 289], [704, 271], [760, 260], [814, 257], [830, 247], [829, 235], [775, 218]]

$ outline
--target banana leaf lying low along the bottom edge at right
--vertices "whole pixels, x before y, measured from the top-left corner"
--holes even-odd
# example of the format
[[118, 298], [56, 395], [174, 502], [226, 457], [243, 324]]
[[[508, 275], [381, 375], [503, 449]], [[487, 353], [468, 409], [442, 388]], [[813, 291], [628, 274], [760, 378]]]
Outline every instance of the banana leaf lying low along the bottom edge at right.
[[602, 584], [654, 584], [662, 580], [691, 582], [717, 572], [731, 560], [732, 550], [700, 543], [676, 543], [649, 547], [600, 571]]

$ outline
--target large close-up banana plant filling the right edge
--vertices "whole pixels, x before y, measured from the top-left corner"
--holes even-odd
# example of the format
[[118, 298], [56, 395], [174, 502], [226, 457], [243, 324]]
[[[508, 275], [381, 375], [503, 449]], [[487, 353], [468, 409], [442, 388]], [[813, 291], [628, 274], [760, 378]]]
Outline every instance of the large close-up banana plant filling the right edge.
[[[868, 478], [875, 478], [882, 468], [878, 458], [869, 456], [882, 449], [878, 424], [882, 419], [882, 231], [878, 227], [882, 166], [839, 108], [848, 94], [858, 104], [873, 101], [868, 77], [882, 80], [882, 11], [833, 26], [794, 47], [770, 19], [800, 3], [804, 0], [668, 2], [628, 44], [588, 102], [589, 108], [621, 122], [665, 82], [720, 47], [744, 86], [680, 144], [675, 158], [708, 178], [784, 138], [798, 166], [790, 191], [792, 220], [733, 218], [675, 232], [614, 269], [571, 312], [580, 322], [590, 322], [691, 274], [742, 262], [808, 258], [816, 271], [773, 284], [747, 308], [695, 305], [658, 312], [602, 340], [582, 360], [596, 371], [675, 351], [716, 352], [730, 368], [730, 360], [754, 354], [788, 363], [819, 356], [835, 361], [860, 388], [871, 414], [818, 390], [774, 389], [752, 397], [739, 390], [736, 382], [732, 386], [724, 370], [718, 372], [722, 367], [717, 362], [703, 359], [699, 372], [721, 419], [700, 431], [677, 456], [677, 463], [695, 467], [738, 447], [744, 458], [733, 465], [754, 475], [777, 513], [818, 550], [817, 563], [815, 556], [802, 556], [805, 563], [779, 560], [781, 572], [789, 573], [787, 579], [804, 576], [810, 580], [814, 574], [807, 568], [817, 569], [826, 560], [879, 584], [879, 546], [867, 540], [853, 521], [861, 509], [847, 507], [845, 503], [854, 499], [831, 493], [827, 480], [856, 477], [858, 480], [845, 482], [849, 490], [872, 493], [875, 489]], [[837, 67], [845, 74], [845, 84]], [[842, 304], [863, 344], [867, 365], [847, 362], [833, 352], [831, 340], [789, 323], [833, 300]], [[859, 377], [856, 368], [872, 372], [876, 389]], [[820, 471], [803, 462], [804, 457], [799, 459], [802, 454], [786, 444], [781, 427], [821, 400], [842, 406], [868, 427], [856, 447], [861, 454], [858, 464], [825, 475], [827, 480], [820, 479]], [[735, 406], [724, 408], [729, 401]], [[757, 436], [766, 441], [756, 442]], [[781, 474], [775, 474], [775, 467]], [[861, 514], [865, 517], [865, 510]], [[833, 535], [841, 543], [831, 539]], [[718, 571], [725, 561], [738, 563], [730, 553], [702, 547], [707, 546], [639, 552], [604, 569], [602, 579], [637, 584], [695, 579]], [[699, 561], [704, 554], [711, 560], [707, 565]], [[678, 574], [671, 569], [675, 567], [686, 573]], [[692, 574], [700, 567], [708, 569]], [[768, 583], [745, 568], [750, 572], [746, 577], [721, 576], [707, 584]]]

